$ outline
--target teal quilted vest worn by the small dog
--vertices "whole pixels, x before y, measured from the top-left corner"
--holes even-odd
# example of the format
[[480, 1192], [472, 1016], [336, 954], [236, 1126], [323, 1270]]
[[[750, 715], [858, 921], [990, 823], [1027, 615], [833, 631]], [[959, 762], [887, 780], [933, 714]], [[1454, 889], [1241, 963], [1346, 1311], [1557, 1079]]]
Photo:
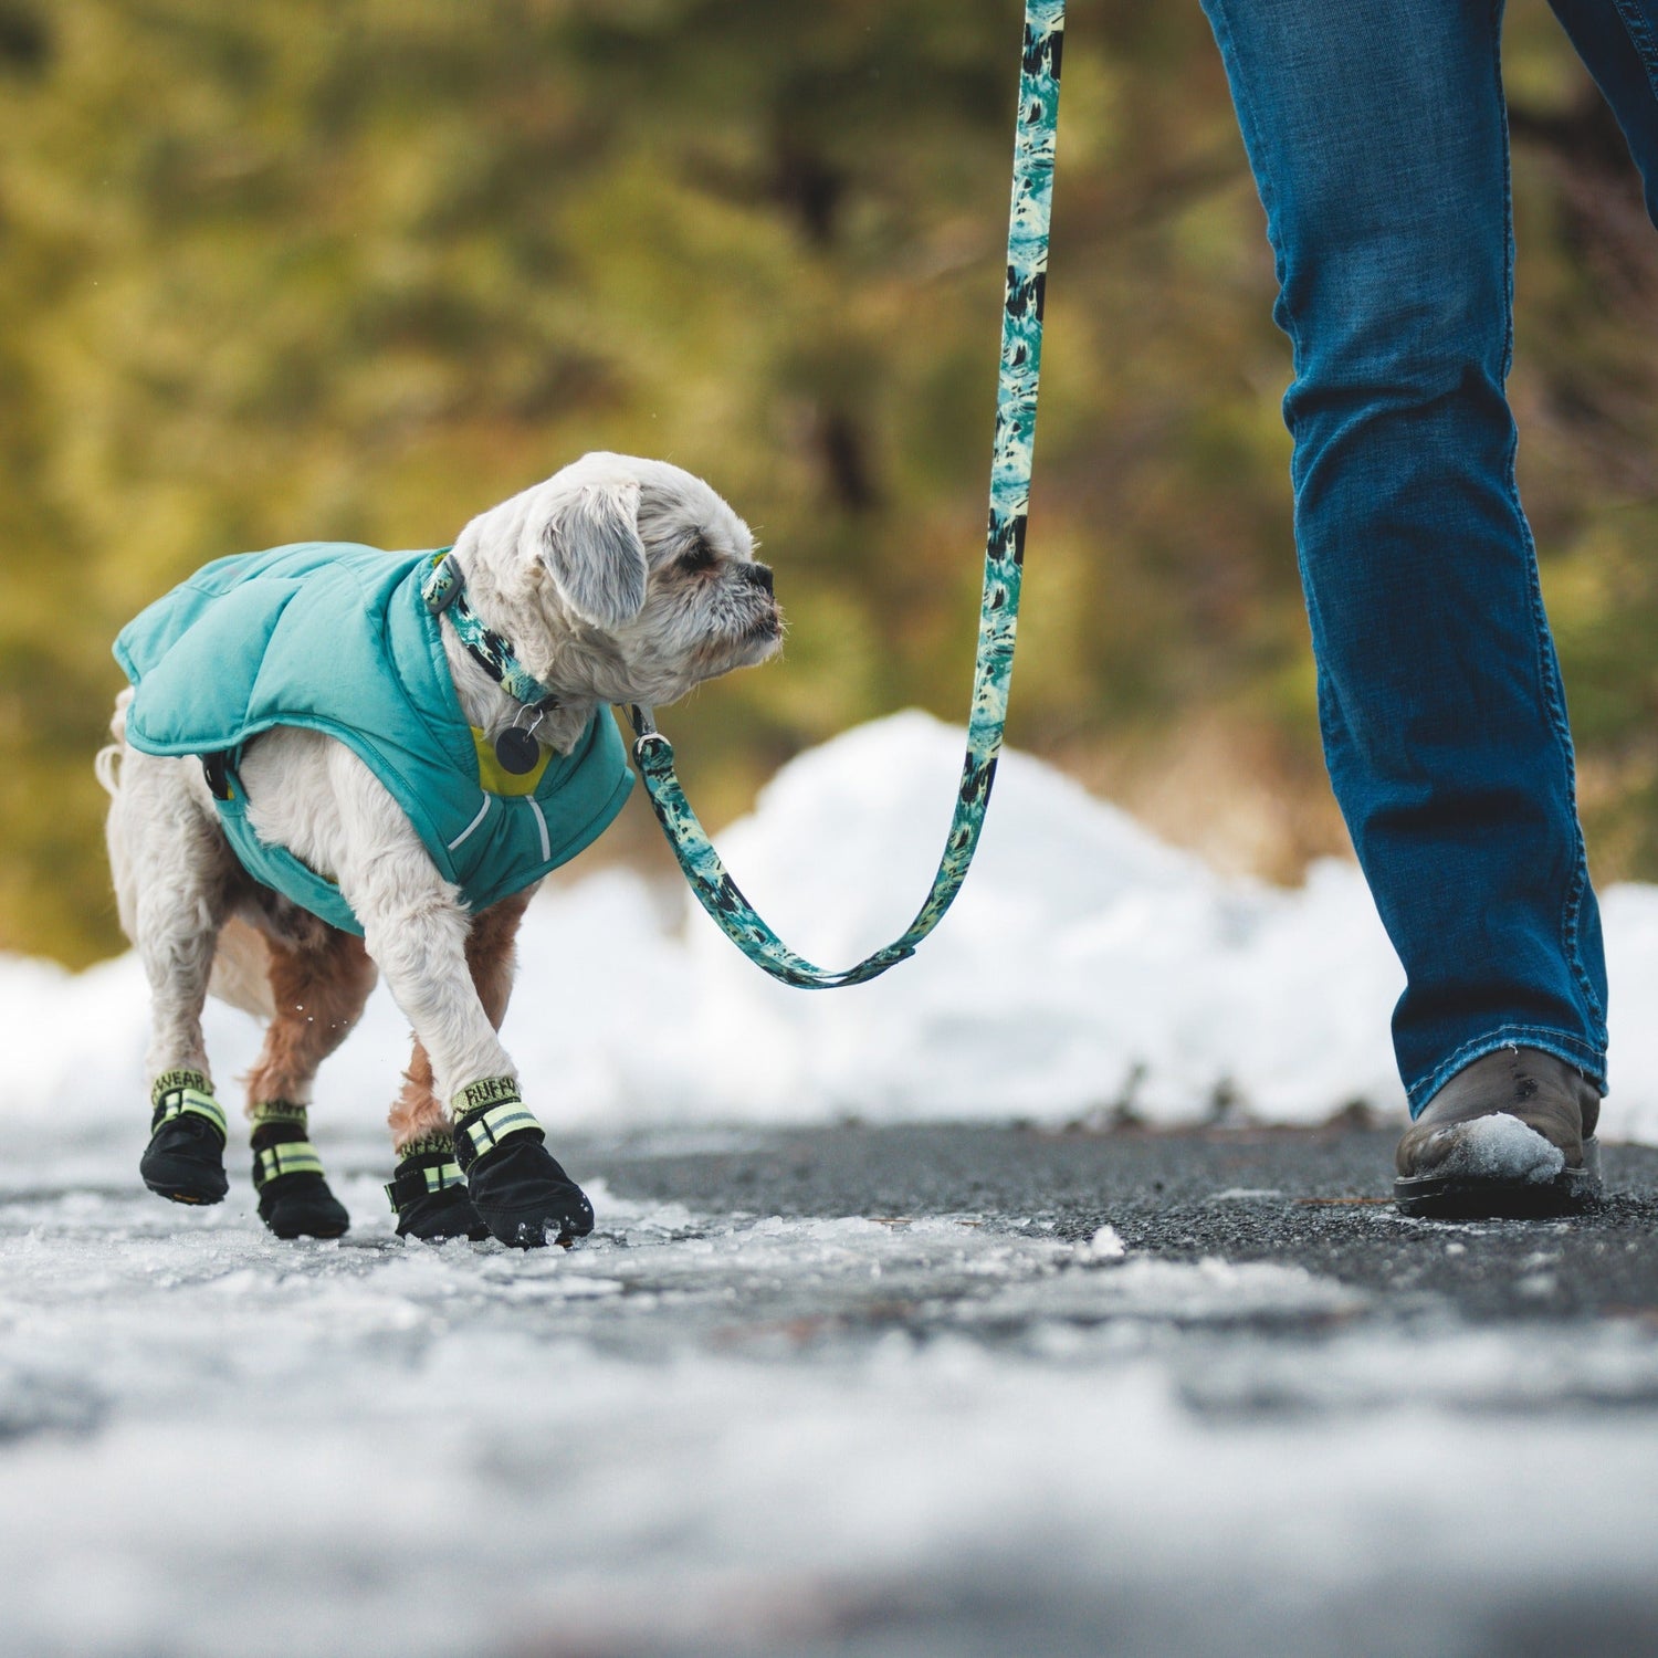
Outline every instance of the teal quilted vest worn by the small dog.
[[136, 688], [128, 743], [146, 754], [227, 756], [214, 794], [242, 865], [358, 935], [340, 889], [260, 841], [247, 821], [235, 758], [260, 731], [303, 726], [345, 743], [473, 910], [575, 857], [633, 784], [608, 708], [595, 710], [572, 751], [552, 754], [539, 778], [506, 778], [486, 764], [487, 744], [461, 713], [439, 622], [421, 599], [433, 557], [298, 542], [217, 559], [114, 643]]

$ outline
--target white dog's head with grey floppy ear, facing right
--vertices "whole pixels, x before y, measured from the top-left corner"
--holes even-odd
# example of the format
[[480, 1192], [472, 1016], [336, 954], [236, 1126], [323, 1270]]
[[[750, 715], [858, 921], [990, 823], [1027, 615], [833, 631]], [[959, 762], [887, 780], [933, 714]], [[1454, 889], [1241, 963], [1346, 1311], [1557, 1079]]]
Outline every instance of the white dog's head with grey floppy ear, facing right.
[[[783, 640], [748, 526], [660, 461], [584, 456], [468, 524], [454, 554], [473, 607], [570, 718], [602, 701], [670, 703]], [[464, 696], [466, 663], [449, 655]], [[512, 713], [501, 700], [484, 723]], [[560, 746], [565, 733], [545, 734]]]

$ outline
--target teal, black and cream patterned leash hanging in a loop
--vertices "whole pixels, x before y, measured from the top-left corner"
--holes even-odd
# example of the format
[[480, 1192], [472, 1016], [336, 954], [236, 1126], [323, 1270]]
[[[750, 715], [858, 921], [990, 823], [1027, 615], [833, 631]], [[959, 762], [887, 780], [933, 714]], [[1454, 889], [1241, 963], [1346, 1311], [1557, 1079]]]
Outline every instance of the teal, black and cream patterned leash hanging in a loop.
[[1059, 118], [1059, 55], [1064, 45], [1064, 0], [1026, 0], [1025, 61], [1013, 144], [1013, 209], [1008, 221], [1008, 292], [1001, 318], [1001, 378], [996, 388], [996, 436], [990, 461], [990, 531], [985, 541], [985, 602], [978, 615], [973, 665], [973, 711], [955, 817], [932, 892], [902, 938], [829, 973], [796, 955], [754, 914], [726, 874], [720, 854], [696, 821], [673, 771], [673, 744], [657, 730], [648, 708], [630, 708], [638, 763], [650, 804], [698, 902], [728, 938], [756, 965], [802, 990], [861, 985], [915, 953], [915, 945], [943, 919], [967, 879], [996, 778], [1001, 730], [1008, 718], [1013, 635], [1020, 615], [1025, 567], [1025, 516], [1030, 511], [1031, 444], [1036, 434], [1036, 381], [1041, 373], [1043, 285], [1048, 277], [1048, 216], [1053, 202], [1054, 131]]

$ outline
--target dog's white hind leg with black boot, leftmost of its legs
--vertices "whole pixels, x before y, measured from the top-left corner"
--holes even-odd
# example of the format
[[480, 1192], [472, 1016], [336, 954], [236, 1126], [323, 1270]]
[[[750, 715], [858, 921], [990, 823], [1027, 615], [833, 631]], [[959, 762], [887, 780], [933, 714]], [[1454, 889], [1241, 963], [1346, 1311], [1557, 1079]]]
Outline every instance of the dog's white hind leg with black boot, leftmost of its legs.
[[[113, 768], [106, 769], [113, 781]], [[201, 771], [187, 759], [126, 749], [108, 839], [121, 924], [149, 982], [153, 1114], [139, 1172], [161, 1197], [217, 1204], [227, 1190], [225, 1127], [207, 1066], [202, 1005], [240, 865]]]

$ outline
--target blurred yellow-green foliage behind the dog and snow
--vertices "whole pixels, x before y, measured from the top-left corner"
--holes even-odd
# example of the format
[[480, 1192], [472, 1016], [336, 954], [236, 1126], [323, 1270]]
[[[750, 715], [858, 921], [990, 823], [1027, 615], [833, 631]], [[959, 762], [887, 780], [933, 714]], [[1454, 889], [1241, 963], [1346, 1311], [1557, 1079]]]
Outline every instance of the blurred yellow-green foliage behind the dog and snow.
[[[784, 665], [670, 715], [715, 821], [960, 718], [1016, 45], [1015, 0], [0, 0], [0, 945], [118, 942], [90, 758], [144, 602], [446, 542], [590, 448], [710, 478], [778, 567]], [[1653, 875], [1658, 252], [1542, 0], [1505, 50], [1522, 482], [1598, 867]], [[1287, 872], [1340, 829], [1270, 300], [1197, 7], [1076, 0], [1013, 738], [1132, 796], [1219, 731]]]

